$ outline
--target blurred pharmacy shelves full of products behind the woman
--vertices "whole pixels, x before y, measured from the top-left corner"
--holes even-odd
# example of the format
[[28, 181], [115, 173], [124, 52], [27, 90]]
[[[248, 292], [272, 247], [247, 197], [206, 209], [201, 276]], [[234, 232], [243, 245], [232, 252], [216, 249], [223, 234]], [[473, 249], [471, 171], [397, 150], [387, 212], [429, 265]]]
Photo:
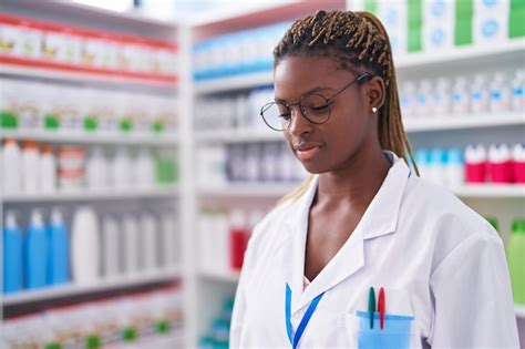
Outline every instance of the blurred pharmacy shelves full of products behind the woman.
[[298, 17], [366, 9], [422, 176], [486, 217], [525, 346], [525, 1], [0, 1], [1, 348], [227, 348], [306, 176], [259, 116]]

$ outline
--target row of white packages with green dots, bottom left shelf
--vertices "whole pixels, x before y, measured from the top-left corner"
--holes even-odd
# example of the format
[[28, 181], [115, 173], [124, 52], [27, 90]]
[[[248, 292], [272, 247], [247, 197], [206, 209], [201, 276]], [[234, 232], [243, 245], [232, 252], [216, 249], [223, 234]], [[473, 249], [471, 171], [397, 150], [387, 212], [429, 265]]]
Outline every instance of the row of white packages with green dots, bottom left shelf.
[[183, 326], [179, 291], [166, 288], [7, 319], [0, 347], [182, 348]]

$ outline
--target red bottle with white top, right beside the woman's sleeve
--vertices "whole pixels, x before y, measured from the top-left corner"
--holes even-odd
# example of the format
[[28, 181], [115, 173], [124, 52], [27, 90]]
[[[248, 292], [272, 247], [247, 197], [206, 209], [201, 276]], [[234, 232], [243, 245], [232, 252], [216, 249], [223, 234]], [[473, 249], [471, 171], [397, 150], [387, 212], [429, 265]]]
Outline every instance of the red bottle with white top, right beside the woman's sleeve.
[[248, 238], [249, 229], [245, 212], [233, 209], [229, 216], [229, 266], [234, 270], [240, 270], [243, 267]]

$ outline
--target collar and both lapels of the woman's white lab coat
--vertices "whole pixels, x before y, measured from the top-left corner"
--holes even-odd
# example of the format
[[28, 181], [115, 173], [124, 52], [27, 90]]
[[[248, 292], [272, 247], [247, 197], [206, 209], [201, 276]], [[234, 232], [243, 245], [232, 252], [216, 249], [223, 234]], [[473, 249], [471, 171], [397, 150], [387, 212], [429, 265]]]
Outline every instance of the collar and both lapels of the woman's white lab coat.
[[[291, 234], [291, 238], [288, 239], [288, 244], [291, 244], [289, 246], [291, 263], [285, 265], [287, 266], [286, 281], [292, 290], [292, 314], [307, 306], [319, 294], [353, 275], [364, 265], [363, 240], [395, 232], [401, 198], [410, 176], [410, 170], [395, 154], [387, 151], [385, 154], [392, 161], [392, 166], [381, 188], [370, 203], [350, 238], [305, 291], [302, 289], [308, 216], [317, 192], [318, 176], [315, 176], [308, 191], [298, 199], [296, 205], [290, 207], [289, 219], [287, 219], [285, 228]], [[285, 285], [282, 291], [285, 291]]]

